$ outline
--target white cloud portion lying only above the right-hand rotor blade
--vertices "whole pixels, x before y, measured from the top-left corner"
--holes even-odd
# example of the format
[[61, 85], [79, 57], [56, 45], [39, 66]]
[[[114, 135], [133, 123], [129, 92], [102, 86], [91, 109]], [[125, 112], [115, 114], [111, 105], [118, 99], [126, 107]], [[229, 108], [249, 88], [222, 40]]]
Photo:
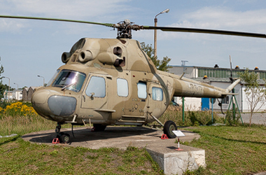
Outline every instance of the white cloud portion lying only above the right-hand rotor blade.
[[181, 19], [172, 26], [262, 31], [258, 26], [266, 26], [266, 9], [234, 11], [230, 8], [204, 7], [183, 15]]

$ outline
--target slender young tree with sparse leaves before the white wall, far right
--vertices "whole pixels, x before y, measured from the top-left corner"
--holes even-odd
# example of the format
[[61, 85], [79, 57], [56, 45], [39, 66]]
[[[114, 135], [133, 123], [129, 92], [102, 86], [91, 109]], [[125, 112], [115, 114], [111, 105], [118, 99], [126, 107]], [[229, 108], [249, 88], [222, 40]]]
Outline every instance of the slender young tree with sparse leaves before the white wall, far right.
[[265, 80], [263, 80], [263, 85], [260, 85], [258, 83], [258, 74], [255, 71], [249, 71], [249, 69], [239, 73], [239, 77], [244, 80], [246, 86], [244, 92], [246, 93], [248, 108], [251, 111], [251, 116], [249, 117], [249, 127], [251, 127], [253, 113], [260, 110], [266, 102]]

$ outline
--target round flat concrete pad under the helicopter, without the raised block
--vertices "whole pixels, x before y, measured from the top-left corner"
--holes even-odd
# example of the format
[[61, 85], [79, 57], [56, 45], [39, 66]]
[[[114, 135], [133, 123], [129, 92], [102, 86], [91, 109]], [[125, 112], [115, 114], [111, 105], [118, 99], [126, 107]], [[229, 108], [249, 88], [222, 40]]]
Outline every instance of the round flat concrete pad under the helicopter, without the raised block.
[[[76, 127], [73, 130], [75, 137], [72, 136], [71, 128], [61, 129], [61, 132], [71, 136], [71, 142], [59, 145], [83, 146], [91, 149], [105, 147], [125, 149], [128, 146], [136, 146], [155, 148], [156, 150], [168, 149], [169, 151], [177, 148], [177, 144], [174, 144], [176, 139], [161, 139], [162, 131], [146, 127], [106, 127], [104, 132], [92, 132], [85, 127]], [[181, 137], [180, 141], [192, 141], [200, 138], [199, 134], [193, 132], [183, 131], [183, 133], [186, 137]], [[52, 139], [55, 137], [55, 130], [47, 130], [25, 134], [22, 139], [52, 145]]]

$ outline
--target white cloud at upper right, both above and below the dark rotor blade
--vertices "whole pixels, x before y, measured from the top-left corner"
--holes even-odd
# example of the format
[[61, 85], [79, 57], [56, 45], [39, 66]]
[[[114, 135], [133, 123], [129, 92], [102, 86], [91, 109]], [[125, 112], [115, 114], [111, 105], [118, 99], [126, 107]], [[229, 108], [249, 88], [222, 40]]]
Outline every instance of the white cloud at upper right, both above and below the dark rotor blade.
[[[226, 7], [204, 7], [199, 10], [186, 13], [179, 17], [171, 27], [188, 27], [202, 29], [221, 29], [230, 31], [246, 31], [251, 33], [262, 33], [266, 31], [266, 9], [234, 11]], [[193, 40], [220, 40], [225, 38], [242, 40], [239, 36], [217, 36], [214, 34], [193, 34], [179, 32], [160, 33], [161, 39], [187, 38]]]

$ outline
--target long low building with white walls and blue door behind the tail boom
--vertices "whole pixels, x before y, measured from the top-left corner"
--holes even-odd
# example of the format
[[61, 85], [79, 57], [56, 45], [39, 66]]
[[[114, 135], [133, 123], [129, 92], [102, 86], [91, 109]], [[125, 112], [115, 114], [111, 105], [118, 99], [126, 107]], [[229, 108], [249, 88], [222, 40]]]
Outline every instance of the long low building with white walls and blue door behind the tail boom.
[[[208, 83], [209, 85], [214, 85], [217, 87], [226, 88], [231, 84], [230, 77], [231, 77], [231, 70], [225, 68], [219, 68], [218, 65], [214, 67], [203, 67], [203, 66], [172, 66], [169, 69], [170, 73], [174, 73], [176, 75], [181, 76], [183, 71], [185, 70], [184, 77], [191, 78], [193, 80], [198, 80], [204, 83]], [[235, 69], [232, 69], [232, 77], [237, 78], [238, 73], [241, 71], [245, 71], [246, 69], [239, 69], [239, 66], [236, 66]], [[260, 80], [266, 78], [266, 71], [259, 70], [258, 67], [255, 67], [254, 70], [256, 73], [259, 74]], [[235, 87], [235, 93], [237, 99], [237, 105], [241, 112], [248, 112], [248, 102], [246, 100], [246, 93], [244, 83], [239, 83]], [[220, 99], [222, 106], [219, 106], [218, 99], [214, 99], [214, 104], [211, 104], [211, 99], [209, 98], [185, 98], [185, 110], [187, 111], [197, 111], [197, 110], [209, 110], [214, 109], [219, 111], [223, 109], [223, 111], [228, 110], [230, 106], [230, 102], [232, 99], [232, 95], [228, 95], [225, 99]], [[175, 102], [178, 104], [182, 103], [180, 97], [174, 98]], [[260, 111], [265, 111], [266, 105], [262, 106]]]

